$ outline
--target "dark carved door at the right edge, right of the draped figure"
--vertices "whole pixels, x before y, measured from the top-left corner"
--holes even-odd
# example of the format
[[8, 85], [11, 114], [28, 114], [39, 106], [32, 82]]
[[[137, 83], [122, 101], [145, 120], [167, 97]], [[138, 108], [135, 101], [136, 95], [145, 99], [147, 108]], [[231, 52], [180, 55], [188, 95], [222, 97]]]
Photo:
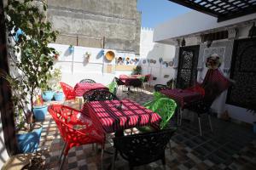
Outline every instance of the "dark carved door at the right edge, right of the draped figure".
[[235, 84], [228, 91], [227, 103], [256, 111], [256, 38], [236, 40], [230, 78]]

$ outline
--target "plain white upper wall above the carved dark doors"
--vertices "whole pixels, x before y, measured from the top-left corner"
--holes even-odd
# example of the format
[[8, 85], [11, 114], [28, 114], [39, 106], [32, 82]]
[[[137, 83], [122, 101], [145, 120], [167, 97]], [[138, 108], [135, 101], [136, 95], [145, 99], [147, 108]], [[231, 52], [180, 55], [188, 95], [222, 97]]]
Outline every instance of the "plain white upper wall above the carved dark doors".
[[201, 31], [210, 31], [212, 29], [232, 26], [236, 23], [255, 19], [256, 14], [247, 14], [233, 20], [217, 22], [218, 19], [216, 17], [197, 11], [191, 11], [156, 26], [154, 29], [154, 42], [164, 42], [170, 38], [183, 37]]

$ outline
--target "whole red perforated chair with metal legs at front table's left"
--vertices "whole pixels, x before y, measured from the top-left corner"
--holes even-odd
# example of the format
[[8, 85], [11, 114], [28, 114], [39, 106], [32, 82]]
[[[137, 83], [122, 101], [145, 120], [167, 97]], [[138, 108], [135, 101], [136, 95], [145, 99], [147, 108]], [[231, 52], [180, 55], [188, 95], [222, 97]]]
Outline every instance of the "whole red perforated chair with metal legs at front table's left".
[[68, 150], [82, 144], [101, 144], [102, 158], [105, 144], [105, 134], [97, 129], [88, 116], [66, 105], [50, 105], [49, 114], [53, 117], [65, 144], [61, 151], [59, 169], [63, 167]]

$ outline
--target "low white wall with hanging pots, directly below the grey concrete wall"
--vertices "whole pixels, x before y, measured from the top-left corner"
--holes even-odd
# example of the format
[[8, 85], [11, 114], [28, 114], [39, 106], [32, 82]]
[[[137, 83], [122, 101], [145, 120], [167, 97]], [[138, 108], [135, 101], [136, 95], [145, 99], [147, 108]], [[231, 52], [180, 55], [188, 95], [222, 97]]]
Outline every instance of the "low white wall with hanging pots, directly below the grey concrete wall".
[[[74, 46], [73, 54], [68, 51], [69, 45], [62, 44], [49, 44], [50, 47], [55, 48], [59, 53], [59, 59], [55, 62], [55, 68], [61, 68], [61, 81], [67, 82], [74, 86], [77, 82], [84, 78], [90, 78], [96, 82], [108, 85], [113, 80], [113, 77], [119, 74], [131, 74], [131, 71], [113, 71], [112, 73], [106, 72], [107, 65], [115, 65], [115, 60], [108, 62], [101, 54], [102, 48], [85, 48]], [[109, 49], [103, 49], [104, 53]], [[124, 52], [117, 52], [112, 50], [116, 56], [122, 56]], [[84, 54], [89, 52], [90, 60], [88, 64], [84, 64]], [[129, 53], [125, 53], [129, 54]], [[129, 54], [133, 57], [134, 54]]]

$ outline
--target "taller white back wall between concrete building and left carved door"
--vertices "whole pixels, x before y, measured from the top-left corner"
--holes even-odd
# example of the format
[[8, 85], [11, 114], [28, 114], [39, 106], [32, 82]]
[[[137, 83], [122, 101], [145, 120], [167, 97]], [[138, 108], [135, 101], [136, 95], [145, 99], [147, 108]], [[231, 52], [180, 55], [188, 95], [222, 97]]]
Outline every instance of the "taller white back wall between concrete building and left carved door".
[[[166, 84], [170, 79], [174, 77], [174, 70], [172, 66], [167, 66], [160, 64], [159, 59], [162, 58], [163, 61], [170, 62], [174, 59], [175, 47], [171, 45], [155, 43], [153, 42], [154, 31], [150, 28], [142, 28], [141, 30], [141, 42], [140, 42], [140, 55], [143, 68], [143, 74], [151, 74], [157, 79], [151, 80], [150, 84]], [[148, 59], [156, 60], [156, 63], [148, 63]], [[146, 63], [143, 63], [146, 60]], [[169, 77], [164, 77], [168, 75]]]

